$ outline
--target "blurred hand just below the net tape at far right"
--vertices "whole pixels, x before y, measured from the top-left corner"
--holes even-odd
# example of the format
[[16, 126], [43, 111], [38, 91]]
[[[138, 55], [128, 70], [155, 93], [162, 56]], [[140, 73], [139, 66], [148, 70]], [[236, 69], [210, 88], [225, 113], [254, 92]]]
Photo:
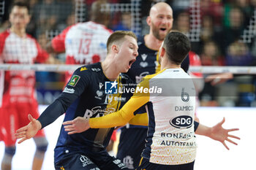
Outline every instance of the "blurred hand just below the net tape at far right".
[[206, 77], [205, 82], [211, 82], [211, 85], [219, 85], [222, 82], [233, 79], [233, 74], [230, 72], [221, 73], [221, 74], [211, 74]]

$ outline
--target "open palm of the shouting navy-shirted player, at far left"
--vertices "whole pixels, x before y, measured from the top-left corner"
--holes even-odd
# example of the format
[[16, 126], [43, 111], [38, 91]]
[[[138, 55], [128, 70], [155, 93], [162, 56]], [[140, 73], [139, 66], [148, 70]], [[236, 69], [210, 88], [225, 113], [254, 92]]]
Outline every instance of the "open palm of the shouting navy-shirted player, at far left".
[[41, 123], [34, 119], [30, 114], [28, 115], [30, 123], [22, 128], [19, 128], [16, 131], [15, 137], [17, 139], [20, 139], [18, 144], [26, 141], [26, 139], [30, 139], [31, 137], [34, 137], [37, 134], [37, 131], [39, 131], [42, 128]]

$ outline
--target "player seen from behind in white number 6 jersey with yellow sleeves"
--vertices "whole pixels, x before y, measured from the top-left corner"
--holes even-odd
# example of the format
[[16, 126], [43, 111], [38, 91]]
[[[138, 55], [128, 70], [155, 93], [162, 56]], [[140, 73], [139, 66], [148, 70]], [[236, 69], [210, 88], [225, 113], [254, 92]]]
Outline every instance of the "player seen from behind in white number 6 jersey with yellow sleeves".
[[121, 110], [89, 120], [77, 117], [64, 123], [65, 131], [75, 134], [88, 128], [125, 125], [134, 117], [135, 110], [146, 104], [148, 118], [144, 114], [133, 120], [140, 125], [148, 123], [146, 148], [143, 150], [139, 170], [192, 170], [197, 147], [195, 133], [218, 140], [225, 147], [225, 140], [236, 144], [227, 137], [239, 139], [229, 134], [238, 129], [222, 128], [225, 120], [213, 128], [199, 124], [194, 133], [195, 87], [191, 77], [181, 69], [181, 62], [189, 50], [187, 36], [170, 32], [159, 50], [161, 71], [146, 76]]

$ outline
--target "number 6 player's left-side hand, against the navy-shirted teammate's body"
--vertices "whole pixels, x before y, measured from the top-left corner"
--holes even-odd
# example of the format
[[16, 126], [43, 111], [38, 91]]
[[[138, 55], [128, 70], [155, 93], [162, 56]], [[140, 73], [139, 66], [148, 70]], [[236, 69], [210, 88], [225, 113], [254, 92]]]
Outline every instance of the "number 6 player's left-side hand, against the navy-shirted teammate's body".
[[68, 132], [67, 134], [81, 133], [90, 128], [89, 119], [84, 117], [76, 117], [74, 120], [69, 120], [62, 124], [64, 125], [65, 131]]

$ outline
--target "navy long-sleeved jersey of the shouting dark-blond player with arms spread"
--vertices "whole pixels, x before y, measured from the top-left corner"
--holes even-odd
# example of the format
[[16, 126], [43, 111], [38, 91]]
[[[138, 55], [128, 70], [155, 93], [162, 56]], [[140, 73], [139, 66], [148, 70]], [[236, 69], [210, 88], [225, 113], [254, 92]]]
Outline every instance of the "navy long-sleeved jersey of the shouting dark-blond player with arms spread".
[[[75, 117], [102, 117], [118, 111], [132, 96], [129, 93], [116, 93], [118, 86], [129, 84], [127, 75], [120, 74], [116, 82], [110, 82], [102, 72], [100, 63], [78, 68], [67, 83], [61, 96], [45, 109], [38, 118], [42, 128], [64, 114], [64, 121]], [[111, 87], [113, 85], [113, 87]], [[111, 89], [113, 88], [113, 89]], [[116, 90], [116, 91], [110, 91]], [[65, 152], [97, 152], [108, 146], [113, 128], [89, 129], [80, 134], [68, 135], [63, 125], [55, 148], [55, 162]]]

